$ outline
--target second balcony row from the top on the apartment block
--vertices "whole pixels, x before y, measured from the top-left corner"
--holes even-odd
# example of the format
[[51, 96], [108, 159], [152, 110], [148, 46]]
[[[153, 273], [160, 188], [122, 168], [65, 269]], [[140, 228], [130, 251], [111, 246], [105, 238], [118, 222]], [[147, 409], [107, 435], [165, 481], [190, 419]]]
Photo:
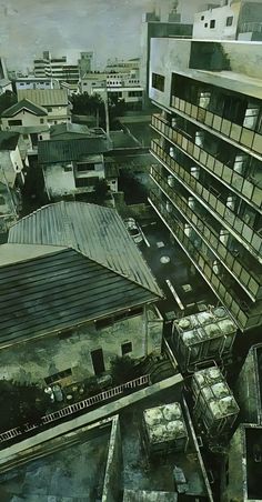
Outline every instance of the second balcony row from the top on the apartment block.
[[254, 179], [248, 180], [229, 165], [223, 164], [214, 155], [204, 151], [202, 147], [195, 144], [189, 134], [181, 130], [172, 129], [167, 121], [157, 114], [152, 116], [152, 127], [190, 155], [191, 159], [195, 160], [205, 171], [226, 184], [230, 190], [239, 193], [249, 204], [251, 203], [255, 209], [262, 209], [262, 188], [255, 184]]

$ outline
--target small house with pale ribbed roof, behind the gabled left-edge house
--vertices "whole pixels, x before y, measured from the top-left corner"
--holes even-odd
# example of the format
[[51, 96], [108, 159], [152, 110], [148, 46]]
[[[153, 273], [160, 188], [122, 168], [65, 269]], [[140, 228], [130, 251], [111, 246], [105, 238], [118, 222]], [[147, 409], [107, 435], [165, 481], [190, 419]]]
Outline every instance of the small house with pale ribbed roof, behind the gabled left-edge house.
[[48, 112], [48, 123], [63, 123], [71, 121], [68, 91], [66, 89], [27, 89], [18, 90], [18, 101], [28, 99], [44, 108]]

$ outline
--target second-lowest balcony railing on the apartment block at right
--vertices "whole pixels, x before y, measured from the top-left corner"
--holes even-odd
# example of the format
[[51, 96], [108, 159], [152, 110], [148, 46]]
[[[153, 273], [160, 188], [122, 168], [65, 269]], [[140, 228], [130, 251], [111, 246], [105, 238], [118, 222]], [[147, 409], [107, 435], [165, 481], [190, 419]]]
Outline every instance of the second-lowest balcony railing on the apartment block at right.
[[167, 197], [173, 202], [175, 208], [184, 218], [187, 218], [190, 224], [193, 225], [201, 239], [208, 243], [211, 251], [219, 257], [221, 262], [226, 267], [234, 279], [245, 289], [250, 298], [254, 301], [256, 297], [260, 297], [262, 293], [262, 284], [261, 281], [258, 280], [258, 277], [255, 277], [240, 262], [238, 258], [230, 252], [226, 245], [221, 242], [212, 225], [204, 221], [203, 217], [198, 214], [196, 209], [194, 208], [194, 210], [192, 210], [189, 207], [187, 199], [178, 192], [174, 192], [167, 180], [161, 175], [161, 168], [152, 167], [151, 175]]

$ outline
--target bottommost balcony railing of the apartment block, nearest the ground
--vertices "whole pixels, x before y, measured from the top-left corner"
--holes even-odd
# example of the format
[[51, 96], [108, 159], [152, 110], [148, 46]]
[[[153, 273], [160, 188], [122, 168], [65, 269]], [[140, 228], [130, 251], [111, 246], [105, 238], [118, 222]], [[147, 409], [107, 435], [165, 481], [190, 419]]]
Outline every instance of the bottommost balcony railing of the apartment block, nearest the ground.
[[150, 193], [149, 201], [154, 207], [164, 223], [169, 227], [170, 231], [172, 232], [179, 244], [183, 248], [190, 260], [195, 264], [196, 269], [209, 282], [216, 297], [231, 312], [240, 329], [243, 331], [249, 320], [249, 307], [242, 307], [241, 301], [235, 300], [234, 291], [231, 291], [228, 284], [223, 284], [220, 277], [213, 272], [211, 263], [209, 263], [206, 255], [204, 255], [203, 253], [203, 249], [201, 250], [195, 248], [193, 242], [184, 233], [182, 223], [180, 223], [174, 218], [174, 215], [172, 215], [164, 208], [164, 202], [161, 202], [161, 200], [158, 195], [155, 195], [154, 192]]

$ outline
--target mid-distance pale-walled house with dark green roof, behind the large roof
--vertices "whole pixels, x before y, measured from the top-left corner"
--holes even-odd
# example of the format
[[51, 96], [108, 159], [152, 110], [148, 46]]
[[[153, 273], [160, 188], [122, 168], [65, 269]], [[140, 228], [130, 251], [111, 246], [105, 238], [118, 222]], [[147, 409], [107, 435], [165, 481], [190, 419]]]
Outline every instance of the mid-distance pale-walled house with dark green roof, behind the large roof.
[[[67, 131], [64, 131], [67, 138]], [[43, 170], [46, 192], [50, 200], [93, 191], [98, 180], [104, 179], [103, 154], [111, 150], [111, 141], [98, 128], [89, 134], [68, 139], [40, 141], [38, 160]]]

